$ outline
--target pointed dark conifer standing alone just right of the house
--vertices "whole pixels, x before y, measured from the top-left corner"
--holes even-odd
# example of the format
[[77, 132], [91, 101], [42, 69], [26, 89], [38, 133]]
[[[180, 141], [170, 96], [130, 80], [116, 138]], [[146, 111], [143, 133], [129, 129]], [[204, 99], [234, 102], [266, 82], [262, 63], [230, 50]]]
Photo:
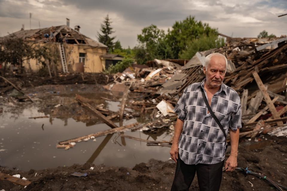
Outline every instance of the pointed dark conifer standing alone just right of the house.
[[112, 33], [115, 33], [115, 31], [113, 31], [113, 28], [111, 27], [111, 23], [111, 19], [109, 18], [109, 15], [107, 15], [103, 24], [101, 24], [100, 31], [102, 32], [102, 34], [97, 32], [99, 42], [108, 46], [109, 52], [112, 52], [114, 50], [115, 43], [113, 42], [113, 40], [116, 38], [115, 36], [110, 36]]

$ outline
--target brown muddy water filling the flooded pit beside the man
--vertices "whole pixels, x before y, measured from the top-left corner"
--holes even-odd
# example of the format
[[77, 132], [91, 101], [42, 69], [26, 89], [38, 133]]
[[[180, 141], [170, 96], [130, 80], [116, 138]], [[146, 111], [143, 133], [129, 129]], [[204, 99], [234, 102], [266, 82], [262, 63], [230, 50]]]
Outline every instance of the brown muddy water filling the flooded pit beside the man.
[[[117, 111], [119, 102], [107, 101], [108, 109]], [[133, 167], [150, 158], [166, 161], [170, 158], [169, 147], [146, 146], [145, 142], [118, 137], [118, 134], [97, 137], [96, 141], [77, 143], [69, 150], [57, 149], [59, 141], [110, 129], [106, 124], [87, 126], [72, 118], [29, 119], [43, 116], [38, 108], [30, 107], [19, 113], [4, 112], [0, 115], [0, 165], [20, 170], [44, 169], [72, 164], [105, 164], [106, 166]], [[141, 121], [142, 119], [138, 119]], [[123, 125], [137, 119], [123, 121]], [[119, 125], [115, 122], [115, 124]], [[167, 132], [143, 133], [126, 131], [125, 135], [148, 140], [169, 140]]]

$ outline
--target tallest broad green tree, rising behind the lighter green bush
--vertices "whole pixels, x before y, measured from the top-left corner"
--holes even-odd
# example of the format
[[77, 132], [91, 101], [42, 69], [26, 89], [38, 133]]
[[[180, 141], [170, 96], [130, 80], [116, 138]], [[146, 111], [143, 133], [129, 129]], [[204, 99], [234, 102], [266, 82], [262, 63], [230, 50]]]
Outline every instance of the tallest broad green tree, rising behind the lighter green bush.
[[187, 48], [187, 43], [202, 35], [210, 36], [217, 34], [217, 29], [209, 27], [207, 23], [196, 21], [195, 17], [187, 17], [183, 21], [176, 21], [172, 30], [168, 30], [167, 42], [172, 50], [172, 58], [177, 59], [178, 55]]

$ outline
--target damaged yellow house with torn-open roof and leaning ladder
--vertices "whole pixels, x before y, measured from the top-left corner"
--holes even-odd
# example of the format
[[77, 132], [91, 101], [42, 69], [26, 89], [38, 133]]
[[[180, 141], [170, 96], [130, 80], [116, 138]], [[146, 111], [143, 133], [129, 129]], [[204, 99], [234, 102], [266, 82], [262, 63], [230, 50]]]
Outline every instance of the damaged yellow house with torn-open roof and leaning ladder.
[[[102, 72], [111, 58], [107, 55], [107, 46], [80, 33], [80, 26], [74, 29], [67, 25], [42, 29], [24, 30], [4, 36], [23, 38], [36, 45], [45, 46], [54, 55], [57, 70], [67, 72]], [[23, 63], [25, 70], [37, 72], [42, 68], [37, 59], [28, 59]]]

